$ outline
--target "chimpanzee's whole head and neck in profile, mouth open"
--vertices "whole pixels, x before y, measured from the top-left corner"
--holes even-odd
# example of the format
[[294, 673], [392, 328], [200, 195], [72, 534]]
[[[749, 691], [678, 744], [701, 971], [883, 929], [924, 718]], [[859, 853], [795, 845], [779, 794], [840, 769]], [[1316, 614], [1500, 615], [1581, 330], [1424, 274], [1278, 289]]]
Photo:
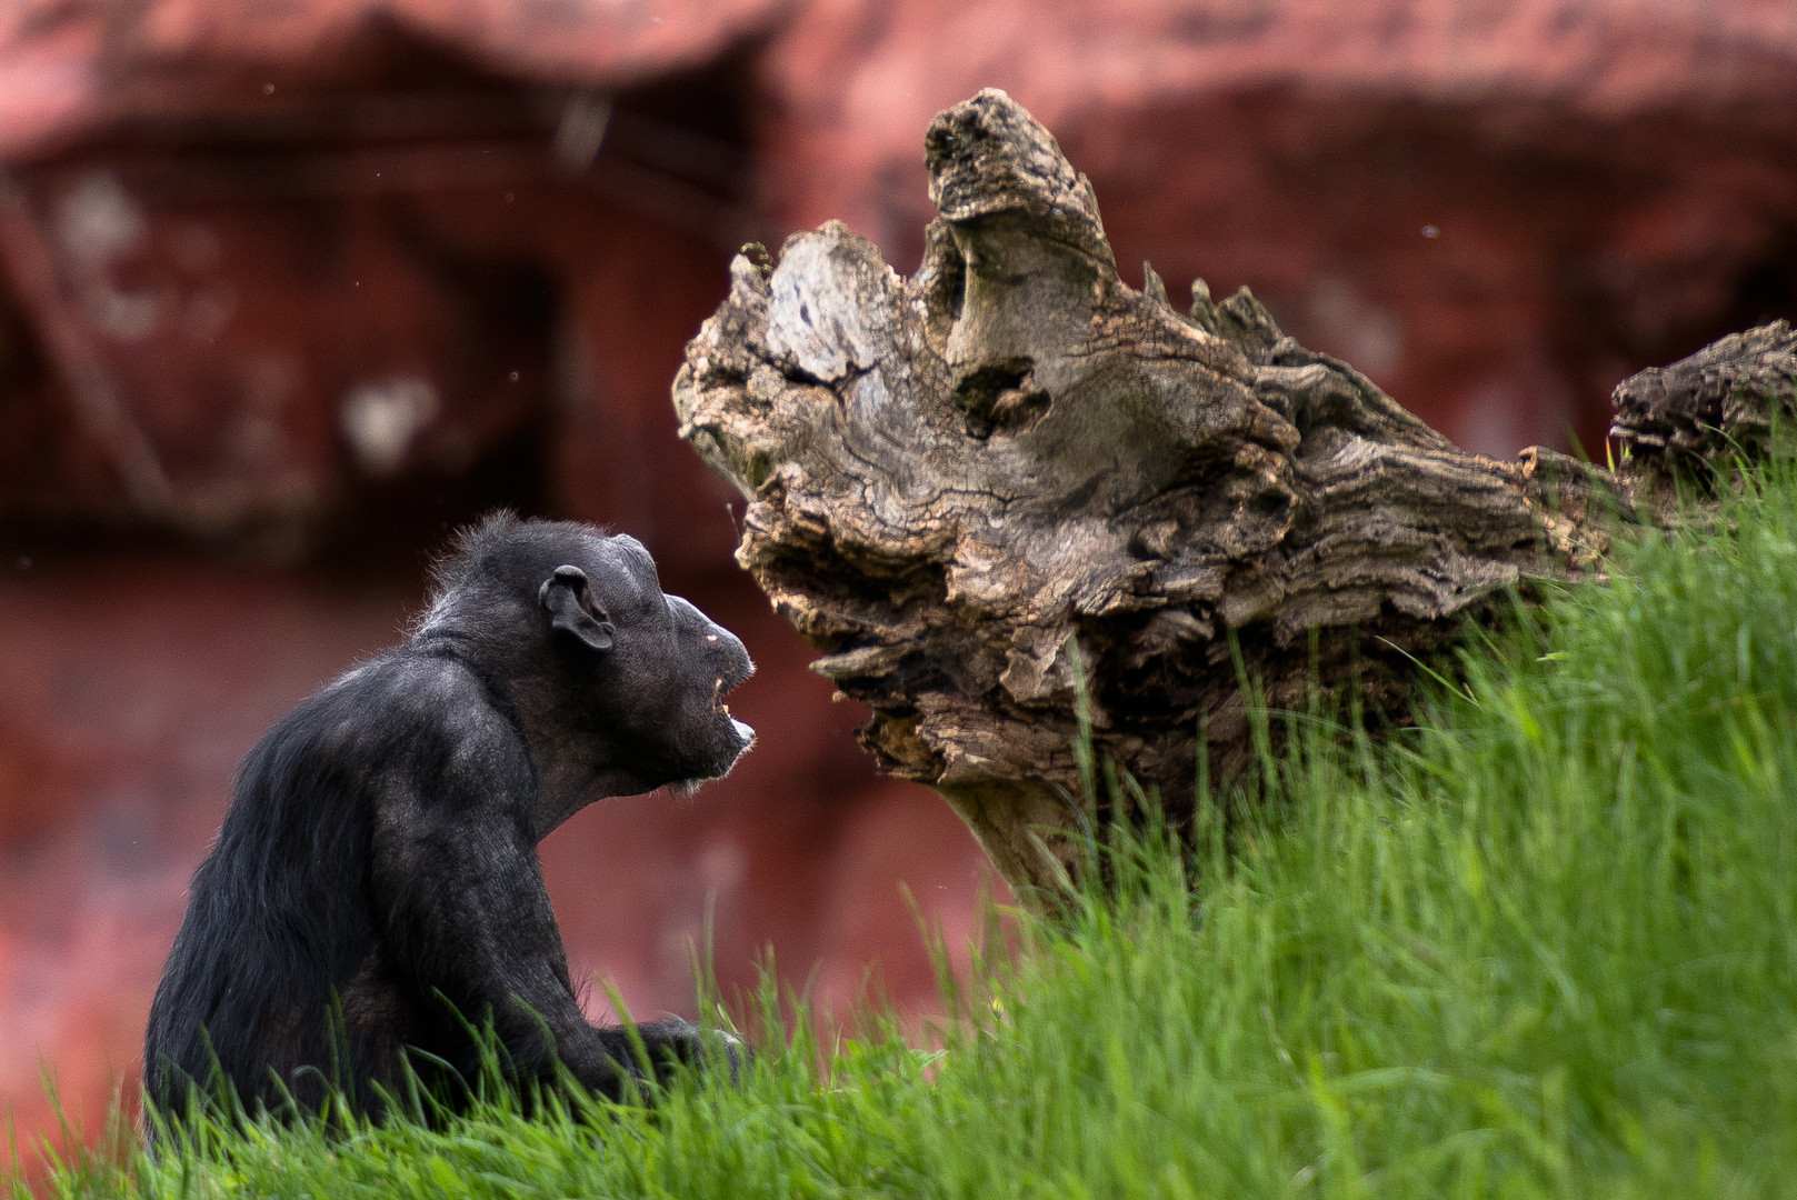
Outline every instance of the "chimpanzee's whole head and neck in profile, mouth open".
[[458, 539], [437, 582], [415, 641], [460, 641], [509, 692], [546, 826], [598, 796], [690, 790], [755, 740], [724, 706], [755, 670], [748, 650], [665, 595], [634, 537], [500, 514]]

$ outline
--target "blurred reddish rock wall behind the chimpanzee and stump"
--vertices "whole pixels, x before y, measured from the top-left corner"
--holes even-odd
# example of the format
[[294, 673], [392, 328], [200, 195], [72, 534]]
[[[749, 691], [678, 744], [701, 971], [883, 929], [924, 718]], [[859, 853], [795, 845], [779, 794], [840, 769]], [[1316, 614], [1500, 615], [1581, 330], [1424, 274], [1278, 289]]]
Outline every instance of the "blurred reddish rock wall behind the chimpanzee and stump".
[[[731, 562], [674, 435], [746, 241], [915, 268], [931, 115], [1003, 86], [1125, 264], [1249, 284], [1463, 446], [1603, 456], [1610, 386], [1797, 307], [1786, 0], [0, 5], [0, 1105], [92, 1128], [237, 758], [494, 507], [634, 534], [737, 629], [760, 746], [543, 846], [575, 974], [690, 1011], [934, 981], [981, 859]], [[604, 992], [589, 1010], [604, 1015]], [[0, 1151], [4, 1153], [4, 1151]]]

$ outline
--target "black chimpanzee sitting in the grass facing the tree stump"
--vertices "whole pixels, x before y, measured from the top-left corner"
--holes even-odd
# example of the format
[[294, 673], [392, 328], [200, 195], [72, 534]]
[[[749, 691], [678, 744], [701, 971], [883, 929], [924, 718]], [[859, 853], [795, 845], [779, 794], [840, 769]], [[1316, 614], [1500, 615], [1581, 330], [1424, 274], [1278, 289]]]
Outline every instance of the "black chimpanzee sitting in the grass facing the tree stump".
[[[507, 1071], [618, 1098], [638, 1056], [580, 1015], [536, 844], [602, 796], [719, 778], [755, 731], [724, 693], [742, 643], [661, 593], [643, 546], [487, 517], [437, 566], [412, 636], [275, 722], [194, 873], [144, 1044], [171, 1116], [198, 1083], [248, 1110], [327, 1087], [376, 1112], [413, 1067]], [[694, 1062], [681, 1020], [638, 1026]], [[730, 1051], [735, 1063], [735, 1051]]]

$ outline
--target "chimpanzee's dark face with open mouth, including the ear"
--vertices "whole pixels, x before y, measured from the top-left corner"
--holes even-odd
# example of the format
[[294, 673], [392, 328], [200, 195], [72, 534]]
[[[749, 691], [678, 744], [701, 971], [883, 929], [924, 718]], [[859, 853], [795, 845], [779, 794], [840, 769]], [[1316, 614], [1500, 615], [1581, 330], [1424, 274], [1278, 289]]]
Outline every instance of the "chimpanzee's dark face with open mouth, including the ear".
[[584, 541], [580, 560], [541, 584], [539, 605], [609, 771], [627, 774], [636, 790], [722, 776], [755, 740], [724, 706], [755, 670], [748, 650], [697, 607], [665, 595], [634, 537]]

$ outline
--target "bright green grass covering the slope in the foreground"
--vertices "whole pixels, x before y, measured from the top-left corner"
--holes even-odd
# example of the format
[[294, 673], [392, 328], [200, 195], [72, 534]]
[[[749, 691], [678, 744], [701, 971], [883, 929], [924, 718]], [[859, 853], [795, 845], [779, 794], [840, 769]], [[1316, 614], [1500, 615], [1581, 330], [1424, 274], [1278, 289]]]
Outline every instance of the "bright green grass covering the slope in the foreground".
[[1276, 821], [1116, 848], [1118, 895], [951, 988], [940, 1054], [801, 1024], [654, 1110], [208, 1134], [56, 1186], [1797, 1195], [1797, 485], [1761, 490], [1477, 647], [1385, 746], [1297, 720]]

